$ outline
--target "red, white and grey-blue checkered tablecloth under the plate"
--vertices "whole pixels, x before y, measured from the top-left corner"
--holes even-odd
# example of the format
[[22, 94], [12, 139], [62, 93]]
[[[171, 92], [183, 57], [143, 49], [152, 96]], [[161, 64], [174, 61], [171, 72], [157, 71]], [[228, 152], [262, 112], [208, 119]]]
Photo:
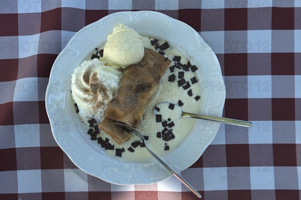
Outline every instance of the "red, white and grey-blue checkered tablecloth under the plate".
[[203, 199], [300, 199], [300, 0], [1, 0], [0, 199], [196, 198], [174, 177], [104, 182], [78, 169], [52, 136], [45, 91], [57, 55], [85, 25], [141, 9], [201, 34], [224, 75], [223, 115], [253, 122], [221, 125], [181, 175]]

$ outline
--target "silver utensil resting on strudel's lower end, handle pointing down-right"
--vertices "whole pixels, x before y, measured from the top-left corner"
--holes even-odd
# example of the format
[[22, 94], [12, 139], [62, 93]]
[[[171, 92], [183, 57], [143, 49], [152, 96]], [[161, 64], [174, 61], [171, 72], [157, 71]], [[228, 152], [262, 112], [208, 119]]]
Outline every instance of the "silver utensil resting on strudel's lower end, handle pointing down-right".
[[150, 154], [152, 154], [163, 166], [165, 166], [170, 172], [172, 172], [188, 189], [190, 189], [197, 197], [201, 198], [202, 195], [196, 190], [194, 189], [188, 182], [186, 182], [186, 180], [184, 180], [180, 175], [178, 175], [176, 173], [176, 171], [174, 171], [171, 167], [169, 167], [160, 157], [158, 157], [153, 151], [152, 149], [149, 148], [146, 140], [143, 137], [143, 133], [140, 132], [138, 129], [123, 124], [123, 123], [119, 123], [119, 122], [115, 122], [116, 125], [120, 126], [120, 127], [124, 127], [127, 128], [129, 130], [131, 130], [132, 132], [134, 132], [144, 143], [145, 143], [145, 147], [148, 150], [148, 152]]

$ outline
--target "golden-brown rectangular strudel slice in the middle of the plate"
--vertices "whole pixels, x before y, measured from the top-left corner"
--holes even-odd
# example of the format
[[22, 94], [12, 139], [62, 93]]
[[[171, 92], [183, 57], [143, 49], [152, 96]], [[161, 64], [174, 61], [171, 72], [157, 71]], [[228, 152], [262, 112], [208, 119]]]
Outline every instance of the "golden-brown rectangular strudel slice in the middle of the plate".
[[[121, 77], [117, 96], [109, 103], [105, 119], [137, 127], [149, 99], [158, 91], [160, 79], [170, 63], [170, 59], [145, 48], [141, 62], [130, 65]], [[104, 131], [118, 142], [114, 135], [119, 132], [113, 133], [108, 129]], [[122, 138], [125, 139], [124, 135]]]

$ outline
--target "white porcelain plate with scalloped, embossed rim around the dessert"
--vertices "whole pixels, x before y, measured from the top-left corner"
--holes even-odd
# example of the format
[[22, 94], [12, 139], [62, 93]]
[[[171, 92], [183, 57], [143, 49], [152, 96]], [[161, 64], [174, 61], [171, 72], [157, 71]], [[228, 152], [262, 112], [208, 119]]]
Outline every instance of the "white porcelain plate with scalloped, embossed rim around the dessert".
[[[55, 60], [46, 92], [46, 110], [53, 136], [81, 170], [114, 184], [149, 184], [172, 176], [155, 159], [124, 161], [110, 157], [86, 133], [87, 127], [74, 111], [70, 92], [71, 74], [93, 49], [101, 46], [115, 25], [124, 23], [139, 34], [167, 39], [190, 56], [199, 69], [201, 113], [221, 116], [225, 102], [224, 81], [214, 52], [192, 27], [155, 11], [126, 11], [107, 15], [78, 31]], [[217, 86], [219, 85], [219, 86]], [[191, 166], [211, 143], [219, 123], [198, 120], [190, 135], [163, 157], [175, 171]]]

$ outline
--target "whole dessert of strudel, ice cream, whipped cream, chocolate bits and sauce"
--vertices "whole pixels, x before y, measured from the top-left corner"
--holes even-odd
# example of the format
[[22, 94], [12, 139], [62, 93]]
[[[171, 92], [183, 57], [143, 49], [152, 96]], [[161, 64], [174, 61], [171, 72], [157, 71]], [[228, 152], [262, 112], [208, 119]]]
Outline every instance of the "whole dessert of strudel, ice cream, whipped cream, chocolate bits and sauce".
[[[116, 45], [110, 47], [112, 41]], [[140, 49], [122, 49], [122, 42]], [[114, 121], [119, 121], [142, 131], [150, 148], [160, 156], [178, 147], [196, 120], [165, 117], [163, 111], [172, 111], [175, 104], [188, 112], [200, 111], [204, 94], [197, 84], [198, 67], [173, 43], [140, 36], [125, 25], [114, 28], [106, 44], [95, 50], [86, 58], [92, 60], [75, 69], [71, 86], [76, 111], [89, 126], [91, 140], [97, 140], [111, 156], [150, 158], [138, 136], [115, 125]], [[154, 115], [153, 108], [159, 102], [170, 102], [170, 106], [158, 107]]]

